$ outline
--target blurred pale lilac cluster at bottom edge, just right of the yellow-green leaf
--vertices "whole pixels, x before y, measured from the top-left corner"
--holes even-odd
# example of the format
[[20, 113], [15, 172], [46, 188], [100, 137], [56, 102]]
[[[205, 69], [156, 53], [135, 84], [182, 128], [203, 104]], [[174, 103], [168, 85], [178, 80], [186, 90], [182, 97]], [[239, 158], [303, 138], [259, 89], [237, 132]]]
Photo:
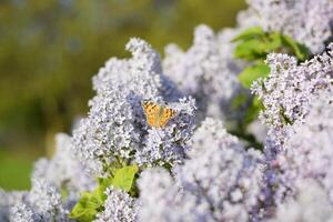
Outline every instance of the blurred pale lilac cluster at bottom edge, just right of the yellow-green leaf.
[[[139, 179], [139, 221], [212, 221], [210, 205], [184, 192], [165, 169], [149, 169]], [[153, 192], [152, 192], [153, 191]]]

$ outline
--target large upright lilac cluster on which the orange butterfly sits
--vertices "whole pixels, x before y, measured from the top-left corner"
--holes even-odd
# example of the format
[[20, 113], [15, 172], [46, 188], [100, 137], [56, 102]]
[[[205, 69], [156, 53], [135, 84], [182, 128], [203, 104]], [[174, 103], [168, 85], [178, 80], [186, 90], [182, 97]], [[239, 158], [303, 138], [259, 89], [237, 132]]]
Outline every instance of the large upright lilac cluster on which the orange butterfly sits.
[[[144, 41], [127, 44], [131, 59], [111, 59], [93, 78], [97, 95], [88, 118], [73, 131], [73, 149], [98, 175], [118, 161], [163, 165], [182, 161], [184, 143], [194, 124], [194, 101], [180, 98], [160, 65], [159, 54]], [[151, 100], [176, 110], [163, 129], [148, 125], [141, 102]]]

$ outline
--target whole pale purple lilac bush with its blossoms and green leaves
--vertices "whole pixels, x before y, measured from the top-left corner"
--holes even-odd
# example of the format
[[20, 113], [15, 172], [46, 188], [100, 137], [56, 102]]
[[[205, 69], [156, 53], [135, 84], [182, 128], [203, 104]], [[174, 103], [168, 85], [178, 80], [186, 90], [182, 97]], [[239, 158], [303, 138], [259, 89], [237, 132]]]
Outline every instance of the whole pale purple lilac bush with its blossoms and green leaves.
[[163, 59], [130, 39], [31, 190], [0, 190], [0, 222], [332, 221], [333, 2], [248, 3]]

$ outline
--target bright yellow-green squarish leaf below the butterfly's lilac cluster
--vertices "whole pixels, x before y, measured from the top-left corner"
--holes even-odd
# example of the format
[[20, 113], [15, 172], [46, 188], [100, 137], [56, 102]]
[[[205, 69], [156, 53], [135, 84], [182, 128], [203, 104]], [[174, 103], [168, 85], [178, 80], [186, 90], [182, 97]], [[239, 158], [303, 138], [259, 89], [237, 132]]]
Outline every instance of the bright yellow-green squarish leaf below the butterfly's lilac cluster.
[[129, 192], [133, 185], [138, 171], [138, 165], [128, 165], [117, 170], [112, 180], [112, 185]]

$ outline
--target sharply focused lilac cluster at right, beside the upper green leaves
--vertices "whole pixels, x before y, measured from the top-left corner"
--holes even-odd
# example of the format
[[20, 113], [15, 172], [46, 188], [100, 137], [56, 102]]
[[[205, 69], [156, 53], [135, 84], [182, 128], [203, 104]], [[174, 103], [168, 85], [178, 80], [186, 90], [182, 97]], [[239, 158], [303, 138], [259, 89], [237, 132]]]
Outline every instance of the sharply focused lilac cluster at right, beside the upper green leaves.
[[327, 52], [297, 65], [293, 57], [268, 56], [270, 75], [254, 82], [253, 92], [262, 100], [261, 120], [270, 127], [282, 128], [306, 115], [313, 94], [327, 88], [333, 77], [333, 44]]

